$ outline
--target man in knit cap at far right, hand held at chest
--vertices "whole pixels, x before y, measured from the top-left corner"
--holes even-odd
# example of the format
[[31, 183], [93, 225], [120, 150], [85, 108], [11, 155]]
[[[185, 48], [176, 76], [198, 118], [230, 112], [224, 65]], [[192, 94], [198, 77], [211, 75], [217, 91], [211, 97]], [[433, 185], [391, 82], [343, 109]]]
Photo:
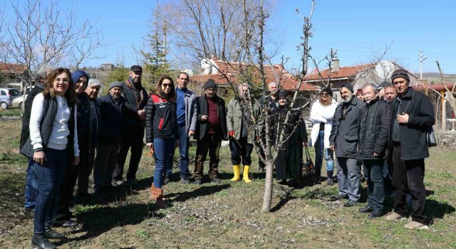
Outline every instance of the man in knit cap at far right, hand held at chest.
[[386, 218], [399, 221], [407, 215], [405, 194], [412, 196], [412, 221], [405, 228], [427, 228], [425, 158], [427, 132], [435, 124], [434, 107], [429, 98], [410, 88], [408, 72], [395, 70], [391, 75], [398, 97], [391, 102], [390, 152], [393, 159], [393, 212]]

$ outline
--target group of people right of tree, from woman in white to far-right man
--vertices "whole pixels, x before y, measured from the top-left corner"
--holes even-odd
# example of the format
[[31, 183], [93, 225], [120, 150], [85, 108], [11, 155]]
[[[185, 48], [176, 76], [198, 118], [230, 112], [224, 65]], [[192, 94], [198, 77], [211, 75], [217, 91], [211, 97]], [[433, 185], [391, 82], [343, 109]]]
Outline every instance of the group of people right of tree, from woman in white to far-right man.
[[406, 228], [427, 228], [425, 216], [425, 158], [427, 132], [435, 123], [430, 99], [410, 87], [406, 70], [395, 70], [390, 84], [366, 84], [362, 96], [350, 83], [341, 85], [341, 103], [331, 101], [331, 88], [321, 91], [311, 107], [311, 145], [316, 149], [316, 174], [326, 159], [328, 185], [333, 184], [333, 155], [337, 159], [338, 195], [344, 206], [361, 198], [361, 165], [367, 180], [367, 206], [360, 208], [377, 218], [387, 213], [385, 200], [394, 196], [390, 221], [405, 219], [406, 194], [412, 202]]

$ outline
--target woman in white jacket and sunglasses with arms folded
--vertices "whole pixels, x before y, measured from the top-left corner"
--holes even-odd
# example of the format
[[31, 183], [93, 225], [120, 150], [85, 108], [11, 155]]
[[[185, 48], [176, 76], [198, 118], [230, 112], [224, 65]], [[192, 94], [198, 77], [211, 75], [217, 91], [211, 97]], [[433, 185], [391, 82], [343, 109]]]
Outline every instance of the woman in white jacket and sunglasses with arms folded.
[[328, 185], [333, 185], [334, 159], [333, 150], [329, 149], [329, 135], [333, 125], [334, 112], [336, 112], [337, 102], [331, 97], [333, 91], [331, 87], [323, 89], [320, 97], [311, 107], [310, 120], [314, 122], [311, 131], [311, 146], [315, 147], [315, 180], [314, 184], [320, 184], [321, 166], [323, 156], [326, 159], [326, 176]]

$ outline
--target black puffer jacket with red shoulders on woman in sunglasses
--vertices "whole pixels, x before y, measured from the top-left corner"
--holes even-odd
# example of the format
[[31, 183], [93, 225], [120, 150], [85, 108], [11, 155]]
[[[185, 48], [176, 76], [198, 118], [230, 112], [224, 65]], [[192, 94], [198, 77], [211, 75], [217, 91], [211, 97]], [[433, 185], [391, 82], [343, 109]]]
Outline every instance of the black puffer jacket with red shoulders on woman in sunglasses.
[[153, 143], [154, 138], [176, 138], [177, 105], [167, 102], [158, 95], [151, 95], [145, 107], [145, 142]]

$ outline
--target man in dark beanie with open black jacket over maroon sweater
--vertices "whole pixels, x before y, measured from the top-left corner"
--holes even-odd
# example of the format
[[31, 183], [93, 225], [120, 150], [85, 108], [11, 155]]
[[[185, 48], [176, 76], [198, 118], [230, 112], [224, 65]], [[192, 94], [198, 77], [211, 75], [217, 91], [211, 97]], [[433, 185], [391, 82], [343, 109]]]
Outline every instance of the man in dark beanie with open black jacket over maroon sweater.
[[217, 96], [217, 85], [209, 79], [204, 84], [204, 95], [197, 97], [194, 116], [197, 117], [194, 138], [197, 142], [197, 158], [195, 162], [195, 184], [202, 184], [203, 164], [209, 152], [209, 179], [219, 183], [217, 178], [219, 152], [222, 139], [228, 139], [227, 111], [225, 102]]

